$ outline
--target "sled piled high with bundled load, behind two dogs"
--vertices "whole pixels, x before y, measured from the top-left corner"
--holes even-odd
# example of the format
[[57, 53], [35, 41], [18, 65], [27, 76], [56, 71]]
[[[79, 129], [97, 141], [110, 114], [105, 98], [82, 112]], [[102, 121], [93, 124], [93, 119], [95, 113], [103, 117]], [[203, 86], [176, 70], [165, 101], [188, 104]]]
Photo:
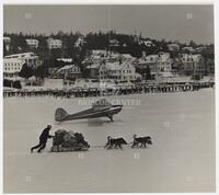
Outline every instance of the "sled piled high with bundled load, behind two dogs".
[[59, 129], [55, 133], [50, 151], [87, 151], [89, 148], [90, 146], [82, 134]]

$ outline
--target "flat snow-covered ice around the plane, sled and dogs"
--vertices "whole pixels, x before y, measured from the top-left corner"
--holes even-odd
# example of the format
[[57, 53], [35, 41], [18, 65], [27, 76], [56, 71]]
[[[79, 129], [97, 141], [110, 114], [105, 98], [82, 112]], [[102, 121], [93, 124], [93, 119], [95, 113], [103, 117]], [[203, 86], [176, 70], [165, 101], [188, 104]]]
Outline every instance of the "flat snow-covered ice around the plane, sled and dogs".
[[[81, 100], [11, 97], [3, 100], [4, 192], [214, 192], [215, 91], [153, 93], [123, 99], [115, 122], [107, 118], [54, 122], [58, 106], [69, 113], [90, 107]], [[136, 101], [136, 102], [135, 102]], [[42, 129], [80, 131], [92, 148], [87, 152], [31, 153]], [[147, 149], [105, 150], [106, 137], [151, 136]]]

